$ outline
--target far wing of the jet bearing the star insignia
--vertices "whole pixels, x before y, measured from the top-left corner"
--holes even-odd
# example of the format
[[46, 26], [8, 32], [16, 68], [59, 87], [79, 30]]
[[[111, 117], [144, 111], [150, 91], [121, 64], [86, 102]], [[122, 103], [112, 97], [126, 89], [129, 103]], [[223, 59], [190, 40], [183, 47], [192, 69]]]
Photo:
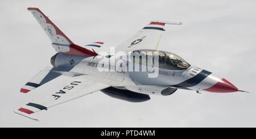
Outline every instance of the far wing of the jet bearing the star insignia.
[[118, 45], [118, 51], [130, 52], [139, 49], [157, 49], [160, 38], [166, 24], [179, 24], [176, 22], [152, 21], [142, 30], [137, 32], [134, 36]]

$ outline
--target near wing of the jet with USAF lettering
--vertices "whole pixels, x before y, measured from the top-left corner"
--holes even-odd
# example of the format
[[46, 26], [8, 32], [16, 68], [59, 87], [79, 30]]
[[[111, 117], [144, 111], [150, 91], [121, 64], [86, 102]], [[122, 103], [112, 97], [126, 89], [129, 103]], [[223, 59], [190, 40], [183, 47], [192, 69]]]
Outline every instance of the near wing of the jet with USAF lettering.
[[[109, 87], [109, 85], [104, 83], [91, 81], [89, 78], [90, 77], [86, 75], [77, 77], [65, 76], [64, 78], [60, 79], [61, 83], [59, 83], [57, 86], [52, 85], [52, 82], [55, 80], [53, 79], [52, 81], [37, 87], [35, 90], [31, 90], [31, 92], [34, 93], [44, 91], [47, 94], [46, 96], [43, 96], [43, 98], [38, 100], [32, 100], [14, 112], [30, 119], [38, 120], [32, 117], [31, 114], [41, 110], [47, 110], [48, 108], [56, 106], [57, 104], [68, 102], [69, 100], [80, 98], [81, 96], [88, 95], [92, 92]], [[49, 86], [49, 89], [46, 90], [46, 87], [44, 86]]]

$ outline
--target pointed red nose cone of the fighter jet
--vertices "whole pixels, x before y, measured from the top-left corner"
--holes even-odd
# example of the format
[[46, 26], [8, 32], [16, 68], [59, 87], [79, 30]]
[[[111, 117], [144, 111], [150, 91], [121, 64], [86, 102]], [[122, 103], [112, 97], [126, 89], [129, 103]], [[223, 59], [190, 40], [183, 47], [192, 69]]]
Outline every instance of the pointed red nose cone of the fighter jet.
[[236, 86], [234, 86], [232, 83], [230, 83], [229, 81], [227, 81], [224, 78], [222, 78], [220, 81], [218, 81], [212, 87], [209, 87], [208, 89], [204, 89], [204, 90], [209, 91], [209, 92], [236, 92], [236, 91], [239, 91]]

